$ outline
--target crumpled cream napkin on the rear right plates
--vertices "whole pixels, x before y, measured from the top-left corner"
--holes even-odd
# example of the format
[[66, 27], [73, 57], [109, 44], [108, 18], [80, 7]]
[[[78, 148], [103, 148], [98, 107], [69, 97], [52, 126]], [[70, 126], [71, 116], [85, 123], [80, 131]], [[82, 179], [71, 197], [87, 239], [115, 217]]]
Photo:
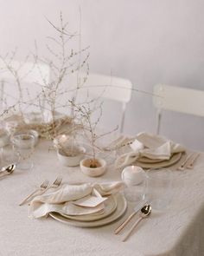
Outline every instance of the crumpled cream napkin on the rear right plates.
[[152, 160], [169, 160], [172, 154], [184, 151], [185, 148], [182, 145], [162, 136], [140, 133], [131, 144], [131, 152], [120, 155], [115, 165], [116, 167], [124, 167], [141, 157]]

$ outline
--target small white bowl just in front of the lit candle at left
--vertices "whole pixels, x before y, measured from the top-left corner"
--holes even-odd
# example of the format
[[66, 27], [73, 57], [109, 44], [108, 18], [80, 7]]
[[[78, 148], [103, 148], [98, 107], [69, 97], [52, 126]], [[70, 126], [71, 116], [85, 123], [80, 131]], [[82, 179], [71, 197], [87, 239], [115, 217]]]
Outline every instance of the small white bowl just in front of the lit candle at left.
[[57, 157], [58, 160], [61, 162], [63, 166], [66, 167], [77, 167], [80, 165], [80, 161], [83, 158], [86, 149], [83, 147], [79, 147], [80, 154], [74, 155], [74, 156], [68, 156], [66, 154], [63, 154], [63, 151], [61, 149], [57, 150]]

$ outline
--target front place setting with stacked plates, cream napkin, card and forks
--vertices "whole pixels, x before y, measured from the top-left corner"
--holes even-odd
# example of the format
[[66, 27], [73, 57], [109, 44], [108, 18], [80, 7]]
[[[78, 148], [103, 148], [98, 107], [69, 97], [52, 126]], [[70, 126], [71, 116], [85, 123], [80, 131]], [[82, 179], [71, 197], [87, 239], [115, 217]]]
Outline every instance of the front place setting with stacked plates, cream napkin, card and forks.
[[29, 204], [31, 219], [50, 216], [72, 226], [104, 226], [118, 220], [126, 211], [121, 181], [63, 184], [57, 180], [55, 186], [42, 182], [19, 204]]

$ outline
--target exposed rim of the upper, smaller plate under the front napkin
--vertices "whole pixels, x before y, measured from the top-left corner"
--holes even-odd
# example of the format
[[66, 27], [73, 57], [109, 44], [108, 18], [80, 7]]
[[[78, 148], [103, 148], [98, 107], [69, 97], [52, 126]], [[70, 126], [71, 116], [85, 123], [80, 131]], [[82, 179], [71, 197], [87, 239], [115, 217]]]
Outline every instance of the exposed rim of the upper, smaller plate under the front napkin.
[[71, 216], [71, 215], [61, 213], [61, 215], [70, 220], [80, 220], [80, 221], [100, 220], [107, 217], [108, 215], [110, 215], [115, 211], [117, 207], [117, 200], [115, 196], [111, 195], [108, 197], [107, 200], [105, 200], [104, 204], [105, 204], [104, 212], [101, 214], [92, 213], [92, 214], [86, 214], [86, 215]]

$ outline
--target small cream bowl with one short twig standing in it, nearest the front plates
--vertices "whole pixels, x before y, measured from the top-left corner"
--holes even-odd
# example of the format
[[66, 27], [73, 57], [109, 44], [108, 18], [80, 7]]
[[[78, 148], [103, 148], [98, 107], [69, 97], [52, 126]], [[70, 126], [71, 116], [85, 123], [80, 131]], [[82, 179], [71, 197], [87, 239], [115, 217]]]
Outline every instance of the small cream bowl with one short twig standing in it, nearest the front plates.
[[100, 158], [97, 158], [96, 160], [99, 162], [99, 167], [90, 167], [90, 158], [86, 158], [80, 161], [81, 172], [90, 177], [98, 177], [104, 174], [107, 167], [106, 161]]

